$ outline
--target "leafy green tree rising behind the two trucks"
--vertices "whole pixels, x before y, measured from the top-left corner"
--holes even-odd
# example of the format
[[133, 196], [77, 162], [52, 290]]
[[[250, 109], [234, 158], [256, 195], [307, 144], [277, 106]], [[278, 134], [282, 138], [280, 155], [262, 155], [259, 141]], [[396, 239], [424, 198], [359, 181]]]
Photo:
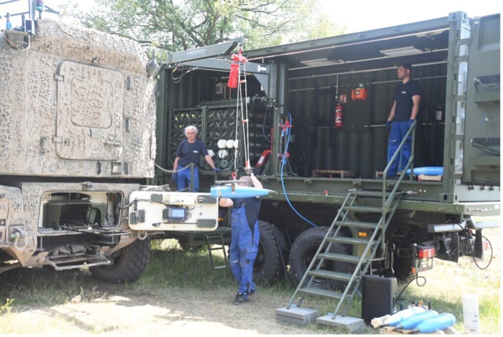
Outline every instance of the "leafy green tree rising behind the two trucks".
[[170, 51], [243, 36], [254, 49], [337, 35], [315, 0], [96, 0], [93, 13], [65, 13], [82, 25]]

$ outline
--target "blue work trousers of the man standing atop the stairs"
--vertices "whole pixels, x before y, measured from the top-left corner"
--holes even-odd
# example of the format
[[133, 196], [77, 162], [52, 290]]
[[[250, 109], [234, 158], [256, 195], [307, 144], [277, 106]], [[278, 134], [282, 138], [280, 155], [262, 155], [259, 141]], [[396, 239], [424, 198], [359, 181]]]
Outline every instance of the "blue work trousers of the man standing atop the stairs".
[[[391, 132], [389, 134], [388, 162], [391, 160], [391, 157], [393, 156], [396, 149], [402, 142], [403, 137], [405, 137], [405, 134], [407, 133], [409, 128], [408, 125], [409, 125], [408, 120], [393, 122], [391, 126]], [[395, 160], [393, 160], [393, 163], [389, 167], [388, 174], [386, 176], [387, 178], [394, 178], [396, 177], [397, 171], [403, 171], [410, 158], [411, 143], [412, 143], [412, 134], [405, 141], [399, 155], [396, 156]]]

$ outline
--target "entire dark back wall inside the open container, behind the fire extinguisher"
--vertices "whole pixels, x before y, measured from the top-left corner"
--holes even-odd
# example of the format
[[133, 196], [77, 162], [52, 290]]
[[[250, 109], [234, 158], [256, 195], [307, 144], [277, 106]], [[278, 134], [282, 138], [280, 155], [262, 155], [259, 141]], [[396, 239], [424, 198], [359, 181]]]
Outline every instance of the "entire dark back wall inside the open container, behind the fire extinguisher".
[[[446, 72], [446, 63], [413, 68], [422, 91], [415, 167], [443, 165]], [[353, 101], [351, 90], [360, 83], [367, 100]], [[289, 147], [294, 172], [309, 177], [312, 170], [350, 170], [355, 177], [374, 178], [383, 171], [389, 136], [385, 122], [398, 85], [396, 69], [291, 78], [287, 106], [294, 118]], [[333, 127], [336, 93], [347, 95], [340, 129]]]

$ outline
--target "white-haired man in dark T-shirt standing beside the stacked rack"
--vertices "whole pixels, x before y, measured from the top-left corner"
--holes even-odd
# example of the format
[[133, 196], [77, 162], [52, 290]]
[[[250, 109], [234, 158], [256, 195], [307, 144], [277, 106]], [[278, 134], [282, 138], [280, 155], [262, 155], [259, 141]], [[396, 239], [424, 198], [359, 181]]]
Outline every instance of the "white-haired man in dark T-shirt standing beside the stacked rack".
[[[219, 173], [220, 169], [215, 167], [215, 163], [213, 159], [211, 159], [208, 154], [208, 150], [206, 149], [206, 145], [202, 141], [196, 138], [197, 136], [197, 128], [194, 125], [189, 125], [185, 128], [185, 136], [187, 139], [184, 139], [178, 144], [177, 148], [177, 157], [175, 158], [175, 163], [173, 164], [173, 175], [171, 176], [171, 180], [177, 183], [177, 191], [185, 191], [191, 184], [190, 177], [190, 163], [193, 162], [196, 164], [194, 167], [194, 191], [199, 191], [199, 160], [201, 155], [204, 156], [204, 159], [210, 165], [214, 173]], [[178, 171], [178, 167], [180, 171]]]

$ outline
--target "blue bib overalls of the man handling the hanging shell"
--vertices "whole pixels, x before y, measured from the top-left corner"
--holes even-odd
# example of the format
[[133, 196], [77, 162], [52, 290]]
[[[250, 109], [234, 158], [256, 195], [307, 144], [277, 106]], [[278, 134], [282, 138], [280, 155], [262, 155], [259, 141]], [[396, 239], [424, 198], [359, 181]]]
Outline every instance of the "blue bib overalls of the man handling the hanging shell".
[[239, 282], [237, 292], [247, 296], [251, 290], [257, 289], [252, 278], [253, 264], [259, 249], [259, 222], [255, 222], [252, 233], [244, 206], [240, 206], [232, 210], [230, 223], [232, 227], [229, 247], [230, 270]]

